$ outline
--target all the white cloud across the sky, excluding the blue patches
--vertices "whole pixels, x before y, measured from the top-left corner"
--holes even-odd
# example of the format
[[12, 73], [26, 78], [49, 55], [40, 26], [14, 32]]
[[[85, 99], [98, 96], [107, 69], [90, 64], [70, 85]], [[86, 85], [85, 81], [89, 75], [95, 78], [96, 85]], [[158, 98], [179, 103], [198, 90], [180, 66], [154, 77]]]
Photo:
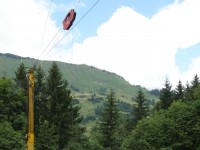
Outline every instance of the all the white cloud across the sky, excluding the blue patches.
[[[48, 4], [45, 0], [1, 1], [0, 52], [38, 58]], [[54, 5], [53, 9], [59, 7], [63, 8]], [[183, 74], [175, 63], [178, 49], [200, 42], [199, 14], [199, 0], [176, 1], [152, 18], [121, 7], [98, 28], [96, 36], [74, 43], [75, 35], [70, 33], [47, 57], [96, 66], [147, 88], [162, 87], [166, 76], [176, 85], [179, 79], [190, 81], [194, 74], [200, 74], [200, 58], [195, 59]], [[52, 18], [49, 18], [46, 31], [43, 48], [58, 31]], [[73, 46], [66, 51], [70, 42]]]

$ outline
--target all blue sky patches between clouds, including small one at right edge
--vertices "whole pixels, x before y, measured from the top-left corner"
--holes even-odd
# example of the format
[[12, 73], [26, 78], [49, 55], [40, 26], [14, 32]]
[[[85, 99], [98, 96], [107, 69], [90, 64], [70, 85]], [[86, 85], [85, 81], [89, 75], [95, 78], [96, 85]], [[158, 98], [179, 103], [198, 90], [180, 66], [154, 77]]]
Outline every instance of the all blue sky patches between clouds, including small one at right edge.
[[[65, 4], [64, 0], [55, 0], [54, 3]], [[81, 3], [84, 2], [84, 6]], [[80, 19], [87, 11], [92, 7], [92, 5], [96, 1], [91, 0], [80, 0], [80, 1], [71, 1], [71, 8], [74, 8], [78, 5], [76, 10], [77, 12], [77, 20]], [[115, 12], [117, 8], [122, 6], [128, 6], [133, 8], [135, 11], [141, 13], [142, 15], [151, 18], [154, 14], [156, 14], [160, 9], [165, 7], [166, 5], [173, 4], [175, 0], [100, 0], [98, 5], [85, 17], [83, 21], [77, 26], [77, 28], [81, 31], [81, 37], [77, 39], [79, 42], [84, 40], [86, 37], [94, 36], [96, 34], [96, 29], [98, 26], [104, 22], [106, 22]], [[179, 0], [178, 3], [182, 3], [183, 0]], [[65, 11], [67, 12], [67, 10]], [[63, 19], [63, 11], [54, 11], [52, 17], [56, 20], [57, 25], [61, 25], [61, 20]], [[89, 29], [88, 29], [89, 28]], [[192, 62], [193, 58], [200, 56], [200, 44], [195, 46], [191, 46], [186, 49], [179, 49], [176, 54], [176, 64], [179, 67], [180, 71], [186, 71], [189, 65]]]

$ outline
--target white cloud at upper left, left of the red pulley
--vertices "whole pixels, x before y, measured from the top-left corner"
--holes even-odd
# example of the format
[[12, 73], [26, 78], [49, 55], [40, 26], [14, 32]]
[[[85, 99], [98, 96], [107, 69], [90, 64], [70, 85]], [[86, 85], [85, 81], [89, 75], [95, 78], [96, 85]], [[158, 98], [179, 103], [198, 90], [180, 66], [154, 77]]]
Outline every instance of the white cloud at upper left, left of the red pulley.
[[[52, 7], [55, 7], [52, 6]], [[47, 19], [49, 1], [46, 0], [6, 0], [0, 2], [0, 52], [38, 58], [49, 41], [59, 31], [56, 22], [49, 17], [43, 46], [42, 36]], [[51, 8], [51, 13], [53, 8]], [[60, 38], [64, 34], [60, 34]], [[68, 38], [68, 40], [66, 40]], [[66, 46], [72, 39], [70, 34], [60, 45]], [[59, 39], [58, 39], [59, 40]], [[55, 43], [55, 42], [52, 42]], [[45, 53], [53, 45], [50, 45]], [[58, 50], [60, 50], [58, 48]], [[44, 53], [44, 54], [45, 54]], [[45, 59], [46, 57], [42, 57]]]

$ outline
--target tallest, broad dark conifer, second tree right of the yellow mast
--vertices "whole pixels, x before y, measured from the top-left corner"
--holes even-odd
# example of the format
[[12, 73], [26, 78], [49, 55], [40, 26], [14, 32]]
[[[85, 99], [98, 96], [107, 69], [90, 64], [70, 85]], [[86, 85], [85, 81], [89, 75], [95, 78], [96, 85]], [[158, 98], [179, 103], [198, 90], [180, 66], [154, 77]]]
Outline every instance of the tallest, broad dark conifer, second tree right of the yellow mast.
[[[47, 77], [49, 103], [49, 125], [56, 126], [59, 149], [66, 148], [71, 141], [81, 140], [84, 128], [80, 127], [80, 107], [75, 106], [68, 83], [54, 62]], [[77, 134], [78, 133], [78, 134]]]

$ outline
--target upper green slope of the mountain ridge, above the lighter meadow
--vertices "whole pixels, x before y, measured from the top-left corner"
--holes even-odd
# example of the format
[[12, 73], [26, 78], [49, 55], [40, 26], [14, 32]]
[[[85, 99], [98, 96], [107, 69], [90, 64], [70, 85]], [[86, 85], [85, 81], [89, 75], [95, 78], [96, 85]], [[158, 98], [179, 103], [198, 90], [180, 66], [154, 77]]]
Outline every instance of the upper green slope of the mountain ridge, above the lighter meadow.
[[[53, 61], [40, 61], [30, 57], [0, 53], [0, 77], [13, 78], [21, 62], [25, 64], [28, 70], [36, 61], [42, 66], [45, 74], [48, 74], [48, 69], [51, 67]], [[68, 81], [70, 88], [74, 92], [90, 93], [90, 95], [98, 93], [101, 95], [102, 93], [107, 94], [110, 89], [113, 89], [119, 99], [131, 102], [132, 98], [136, 96], [138, 89], [141, 88], [138, 85], [131, 85], [123, 77], [115, 73], [101, 70], [94, 66], [70, 64], [60, 61], [55, 62], [59, 66], [63, 78]], [[145, 88], [142, 89], [147, 94], [147, 97], [157, 99], [148, 90]]]

